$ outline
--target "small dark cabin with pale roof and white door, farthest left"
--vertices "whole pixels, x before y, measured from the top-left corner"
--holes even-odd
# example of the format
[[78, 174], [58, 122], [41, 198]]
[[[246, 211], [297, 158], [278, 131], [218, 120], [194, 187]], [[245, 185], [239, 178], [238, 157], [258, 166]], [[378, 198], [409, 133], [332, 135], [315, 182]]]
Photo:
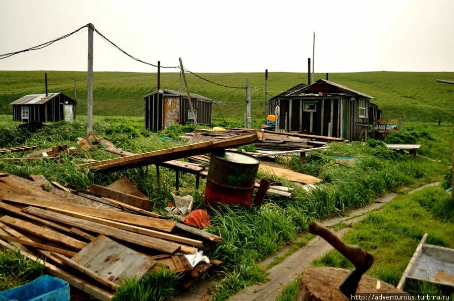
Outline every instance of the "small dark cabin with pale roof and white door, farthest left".
[[13, 120], [19, 122], [71, 121], [76, 118], [77, 102], [63, 93], [29, 94], [13, 102]]

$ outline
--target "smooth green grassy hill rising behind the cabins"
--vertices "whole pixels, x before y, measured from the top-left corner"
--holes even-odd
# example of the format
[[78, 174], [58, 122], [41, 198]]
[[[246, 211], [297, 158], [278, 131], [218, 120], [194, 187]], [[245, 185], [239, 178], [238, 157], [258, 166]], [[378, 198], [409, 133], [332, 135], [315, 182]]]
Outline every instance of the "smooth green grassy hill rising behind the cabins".
[[[0, 71], [0, 114], [11, 114], [11, 101], [33, 93], [44, 93], [44, 72], [47, 72], [49, 92], [63, 92], [74, 97], [74, 77], [77, 78], [77, 113], [86, 113], [86, 72], [72, 71]], [[205, 73], [201, 76], [230, 86], [244, 86], [249, 78], [253, 117], [264, 116], [265, 93], [263, 73]], [[93, 75], [95, 115], [142, 116], [143, 96], [157, 88], [156, 73], [95, 72]], [[316, 74], [316, 79], [325, 74]], [[245, 90], [213, 85], [188, 74], [191, 92], [220, 102], [224, 117], [242, 117], [245, 112]], [[405, 121], [454, 122], [454, 85], [437, 83], [436, 79], [454, 80], [453, 72], [360, 72], [331, 73], [329, 79], [349, 88], [372, 95], [383, 110], [383, 117], [402, 117]], [[269, 73], [270, 95], [279, 94], [300, 82], [306, 83], [305, 73]], [[179, 89], [178, 73], [162, 73], [161, 86]], [[213, 116], [219, 117], [213, 106]]]

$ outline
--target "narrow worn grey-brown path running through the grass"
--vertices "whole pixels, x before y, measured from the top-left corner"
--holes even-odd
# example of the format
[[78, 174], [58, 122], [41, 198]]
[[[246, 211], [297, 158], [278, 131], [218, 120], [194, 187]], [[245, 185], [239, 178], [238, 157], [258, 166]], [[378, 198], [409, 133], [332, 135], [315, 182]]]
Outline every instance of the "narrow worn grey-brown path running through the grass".
[[[414, 193], [415, 191], [422, 190], [429, 186], [437, 186], [439, 183], [431, 183], [424, 185], [420, 188], [412, 190], [408, 193]], [[356, 210], [349, 212], [348, 216], [345, 217], [336, 217], [332, 219], [322, 220], [321, 223], [325, 226], [333, 226], [340, 222], [345, 224], [352, 224], [360, 221], [365, 218], [369, 212], [376, 210], [382, 207], [384, 204], [388, 203], [396, 197], [397, 194], [389, 193], [385, 194], [380, 198], [377, 198], [374, 203]], [[343, 228], [336, 232], [336, 234], [341, 237], [344, 233], [349, 231], [350, 228]], [[296, 279], [302, 271], [308, 268], [312, 262], [325, 255], [333, 248], [331, 245], [325, 242], [324, 239], [320, 237], [315, 237], [306, 246], [300, 248], [298, 251], [294, 252], [292, 255], [288, 256], [283, 262], [272, 267], [268, 275], [269, 281], [266, 283], [258, 283], [255, 285], [247, 286], [245, 289], [238, 291], [236, 294], [231, 296], [228, 300], [230, 301], [258, 301], [258, 300], [275, 300], [276, 296], [280, 293], [282, 288]], [[287, 248], [281, 249], [278, 253], [270, 256], [266, 260], [262, 261], [259, 265], [262, 267], [268, 266], [276, 258], [283, 256], [288, 250]], [[209, 288], [216, 281], [212, 279], [211, 281], [204, 281], [199, 283], [195, 290], [191, 292], [185, 292], [176, 297], [177, 300], [201, 300], [207, 294]]]

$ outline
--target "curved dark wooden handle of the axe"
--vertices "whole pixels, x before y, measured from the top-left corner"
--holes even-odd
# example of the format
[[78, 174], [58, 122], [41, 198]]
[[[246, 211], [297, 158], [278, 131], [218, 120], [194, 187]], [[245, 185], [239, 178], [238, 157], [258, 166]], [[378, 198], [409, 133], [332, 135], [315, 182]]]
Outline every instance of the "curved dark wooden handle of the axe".
[[337, 251], [345, 256], [356, 268], [361, 268], [366, 264], [367, 254], [359, 246], [347, 245], [330, 229], [317, 222], [309, 223], [309, 231], [321, 236]]

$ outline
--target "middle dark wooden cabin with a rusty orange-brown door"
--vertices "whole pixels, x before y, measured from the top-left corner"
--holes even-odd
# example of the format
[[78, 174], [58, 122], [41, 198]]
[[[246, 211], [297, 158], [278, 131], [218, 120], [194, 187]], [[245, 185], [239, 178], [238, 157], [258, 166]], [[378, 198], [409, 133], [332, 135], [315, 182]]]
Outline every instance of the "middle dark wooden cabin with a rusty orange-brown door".
[[[197, 124], [211, 126], [213, 100], [191, 93]], [[170, 89], [160, 89], [144, 96], [145, 128], [158, 132], [170, 125], [194, 123], [187, 93]]]

